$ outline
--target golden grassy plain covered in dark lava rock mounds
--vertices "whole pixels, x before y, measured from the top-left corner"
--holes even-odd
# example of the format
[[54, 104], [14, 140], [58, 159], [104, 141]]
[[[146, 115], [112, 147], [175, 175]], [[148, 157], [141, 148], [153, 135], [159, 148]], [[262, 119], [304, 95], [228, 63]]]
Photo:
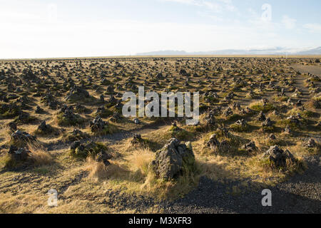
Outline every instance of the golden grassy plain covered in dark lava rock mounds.
[[[0, 212], [320, 213], [320, 77], [317, 56], [0, 61]], [[125, 118], [138, 86], [199, 92], [200, 123]]]

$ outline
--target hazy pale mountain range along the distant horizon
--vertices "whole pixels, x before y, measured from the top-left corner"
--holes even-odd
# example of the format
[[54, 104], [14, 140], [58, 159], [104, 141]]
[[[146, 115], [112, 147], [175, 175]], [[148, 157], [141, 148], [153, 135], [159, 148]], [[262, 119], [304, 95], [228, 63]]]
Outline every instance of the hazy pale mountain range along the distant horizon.
[[225, 49], [218, 51], [199, 51], [199, 52], [186, 52], [186, 51], [151, 51], [146, 53], [137, 53], [137, 56], [211, 56], [211, 55], [321, 55], [321, 47], [317, 48], [265, 48], [265, 49]]

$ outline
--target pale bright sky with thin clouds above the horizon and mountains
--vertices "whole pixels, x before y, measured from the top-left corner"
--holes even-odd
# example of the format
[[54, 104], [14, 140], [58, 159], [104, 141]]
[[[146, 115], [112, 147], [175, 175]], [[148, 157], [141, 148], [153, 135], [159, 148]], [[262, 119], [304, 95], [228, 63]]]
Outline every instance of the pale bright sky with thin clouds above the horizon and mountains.
[[0, 58], [321, 46], [320, 0], [0, 0], [0, 4]]

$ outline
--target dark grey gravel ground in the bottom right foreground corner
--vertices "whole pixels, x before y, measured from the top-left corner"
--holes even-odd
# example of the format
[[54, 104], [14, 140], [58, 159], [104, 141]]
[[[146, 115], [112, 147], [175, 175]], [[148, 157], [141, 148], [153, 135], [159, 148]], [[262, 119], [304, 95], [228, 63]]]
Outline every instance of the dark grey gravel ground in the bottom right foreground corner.
[[287, 182], [271, 187], [272, 207], [263, 207], [262, 190], [244, 192], [239, 196], [226, 193], [235, 182], [222, 184], [202, 177], [196, 190], [168, 205], [168, 213], [320, 213], [320, 155], [307, 157], [308, 169]]

